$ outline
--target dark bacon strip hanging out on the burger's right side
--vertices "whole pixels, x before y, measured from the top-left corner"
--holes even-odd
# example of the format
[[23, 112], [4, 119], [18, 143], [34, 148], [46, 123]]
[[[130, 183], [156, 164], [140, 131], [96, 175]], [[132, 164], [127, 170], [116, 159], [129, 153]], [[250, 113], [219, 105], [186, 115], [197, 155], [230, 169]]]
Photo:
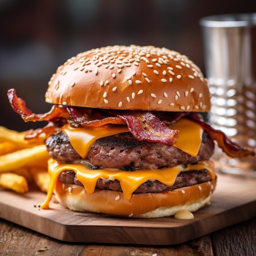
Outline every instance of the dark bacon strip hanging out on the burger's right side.
[[234, 141], [231, 141], [224, 132], [220, 130], [213, 129], [208, 123], [203, 121], [203, 119], [196, 113], [191, 112], [187, 118], [195, 121], [196, 123], [200, 124], [206, 130], [211, 138], [218, 143], [218, 146], [230, 157], [248, 157], [254, 156], [254, 150], [250, 150], [244, 148]]

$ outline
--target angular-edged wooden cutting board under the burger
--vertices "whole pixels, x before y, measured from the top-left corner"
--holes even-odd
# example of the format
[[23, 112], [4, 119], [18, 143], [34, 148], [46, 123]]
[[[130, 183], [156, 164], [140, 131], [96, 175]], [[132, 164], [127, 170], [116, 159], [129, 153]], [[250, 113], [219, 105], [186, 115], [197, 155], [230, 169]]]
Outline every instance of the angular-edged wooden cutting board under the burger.
[[0, 217], [67, 242], [173, 245], [256, 216], [256, 178], [218, 174], [211, 205], [195, 212], [192, 220], [76, 213], [54, 202], [52, 209], [42, 210], [44, 200], [40, 191], [0, 191]]

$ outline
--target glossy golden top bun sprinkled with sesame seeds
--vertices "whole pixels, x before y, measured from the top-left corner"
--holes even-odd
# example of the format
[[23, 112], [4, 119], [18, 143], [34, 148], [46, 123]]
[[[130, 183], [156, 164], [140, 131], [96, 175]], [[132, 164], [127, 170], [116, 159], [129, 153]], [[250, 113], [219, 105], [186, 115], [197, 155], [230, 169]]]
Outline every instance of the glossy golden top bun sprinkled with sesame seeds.
[[154, 46], [108, 46], [68, 59], [45, 94], [48, 103], [119, 110], [207, 112], [207, 79], [187, 56]]

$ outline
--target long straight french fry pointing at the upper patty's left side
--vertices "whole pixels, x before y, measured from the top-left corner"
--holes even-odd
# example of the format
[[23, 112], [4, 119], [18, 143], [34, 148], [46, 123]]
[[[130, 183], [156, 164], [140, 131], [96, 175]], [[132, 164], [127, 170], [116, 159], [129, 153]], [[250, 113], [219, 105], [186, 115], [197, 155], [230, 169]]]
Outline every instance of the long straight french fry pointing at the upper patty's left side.
[[47, 162], [49, 154], [45, 145], [25, 148], [7, 155], [0, 156], [0, 173], [13, 171], [23, 166], [33, 166], [43, 161]]

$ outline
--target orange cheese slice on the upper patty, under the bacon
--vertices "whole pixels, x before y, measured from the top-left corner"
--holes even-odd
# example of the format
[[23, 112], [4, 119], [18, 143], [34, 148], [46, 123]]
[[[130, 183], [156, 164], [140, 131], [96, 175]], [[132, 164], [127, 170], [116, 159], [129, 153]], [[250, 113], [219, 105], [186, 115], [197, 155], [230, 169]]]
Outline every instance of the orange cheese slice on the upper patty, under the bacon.
[[[173, 146], [195, 157], [201, 145], [203, 128], [187, 119], [180, 119], [170, 128], [180, 131], [177, 143]], [[90, 147], [97, 139], [128, 131], [128, 127], [123, 125], [105, 125], [97, 129], [73, 128], [69, 124], [63, 127], [63, 132], [69, 138], [72, 147], [83, 158], [85, 158]]]

